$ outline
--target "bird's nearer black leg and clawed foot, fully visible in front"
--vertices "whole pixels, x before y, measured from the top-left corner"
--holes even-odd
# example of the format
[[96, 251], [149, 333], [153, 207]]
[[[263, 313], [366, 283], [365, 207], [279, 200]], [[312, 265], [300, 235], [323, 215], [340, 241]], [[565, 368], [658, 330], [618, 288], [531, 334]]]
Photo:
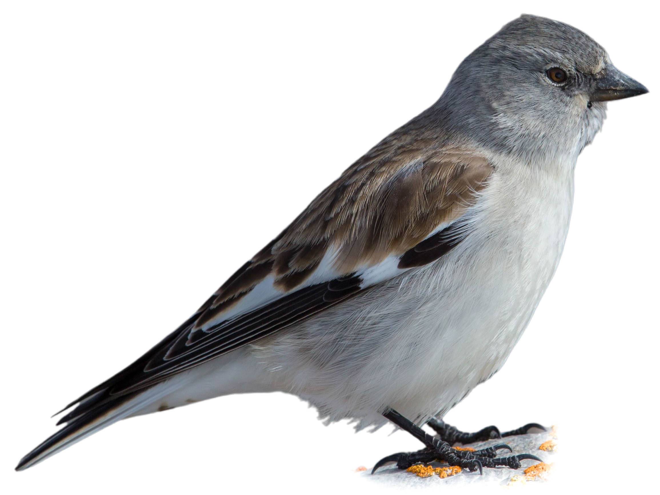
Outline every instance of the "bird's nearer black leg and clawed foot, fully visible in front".
[[416, 426], [408, 418], [401, 416], [401, 414], [394, 411], [394, 409], [387, 409], [387, 411], [383, 413], [383, 416], [399, 426], [402, 430], [409, 432], [414, 438], [422, 442], [425, 447], [416, 452], [399, 452], [383, 457], [383, 459], [378, 461], [374, 466], [372, 474], [376, 473], [376, 469], [389, 462], [397, 463], [399, 469], [408, 469], [413, 464], [440, 461], [451, 466], [459, 466], [461, 469], [469, 469], [469, 471], [479, 470], [479, 473], [483, 473], [482, 468], [484, 467], [506, 466], [512, 469], [518, 469], [520, 467], [520, 461], [525, 459], [533, 459], [541, 462], [539, 457], [531, 454], [495, 457], [498, 449], [509, 449], [509, 451], [512, 451], [512, 448], [506, 444], [499, 444], [474, 452], [456, 450], [451, 448], [451, 445], [448, 442], [426, 433], [422, 428]]

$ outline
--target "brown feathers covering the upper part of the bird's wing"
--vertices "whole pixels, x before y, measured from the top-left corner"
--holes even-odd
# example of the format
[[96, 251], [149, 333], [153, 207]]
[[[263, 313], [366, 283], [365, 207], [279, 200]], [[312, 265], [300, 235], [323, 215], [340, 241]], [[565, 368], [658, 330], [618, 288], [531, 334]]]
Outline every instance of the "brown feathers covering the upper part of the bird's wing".
[[460, 216], [492, 168], [468, 150], [438, 150], [422, 140], [390, 156], [362, 158], [321, 193], [273, 246], [332, 246], [341, 273], [374, 265], [424, 240]]

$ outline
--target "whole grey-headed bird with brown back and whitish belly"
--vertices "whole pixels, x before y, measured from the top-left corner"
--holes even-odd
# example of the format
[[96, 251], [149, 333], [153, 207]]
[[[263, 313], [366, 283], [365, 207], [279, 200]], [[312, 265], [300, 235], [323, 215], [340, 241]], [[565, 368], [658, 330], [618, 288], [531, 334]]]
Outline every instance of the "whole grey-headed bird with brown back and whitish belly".
[[60, 411], [64, 426], [16, 469], [124, 418], [268, 391], [308, 401], [325, 422], [393, 424], [423, 445], [374, 471], [539, 461], [498, 457], [506, 444], [451, 448], [539, 424], [466, 433], [443, 418], [500, 370], [543, 297], [568, 232], [576, 161], [607, 102], [646, 92], [584, 32], [515, 18], [189, 319]]

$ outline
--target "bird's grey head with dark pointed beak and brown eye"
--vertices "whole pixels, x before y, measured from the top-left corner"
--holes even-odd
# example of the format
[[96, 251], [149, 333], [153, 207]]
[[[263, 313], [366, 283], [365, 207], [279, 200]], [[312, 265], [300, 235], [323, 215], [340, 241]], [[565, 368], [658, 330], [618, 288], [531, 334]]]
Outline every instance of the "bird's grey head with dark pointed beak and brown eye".
[[580, 30], [523, 15], [459, 65], [429, 110], [481, 145], [527, 160], [577, 158], [601, 129], [607, 101], [647, 89]]

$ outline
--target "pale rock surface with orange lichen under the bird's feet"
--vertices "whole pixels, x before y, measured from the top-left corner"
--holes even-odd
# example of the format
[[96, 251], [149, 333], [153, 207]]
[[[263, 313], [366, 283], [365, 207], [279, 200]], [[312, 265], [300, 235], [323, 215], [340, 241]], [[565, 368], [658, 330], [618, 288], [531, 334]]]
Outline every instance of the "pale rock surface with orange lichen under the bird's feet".
[[[543, 462], [546, 463], [546, 465], [536, 467], [535, 469], [527, 469], [529, 467], [538, 465], [539, 463], [533, 460], [525, 460], [521, 461], [523, 466], [516, 470], [506, 467], [500, 467], [496, 469], [484, 468], [484, 474], [479, 475], [478, 471], [472, 473], [463, 469], [461, 473], [441, 479], [437, 474], [426, 478], [419, 477], [415, 473], [399, 470], [395, 467], [394, 464], [389, 464], [378, 469], [376, 474], [373, 476], [371, 475], [371, 468], [360, 473], [360, 476], [364, 477], [365, 479], [370, 479], [371, 482], [383, 483], [393, 487], [424, 488], [428, 486], [429, 488], [436, 489], [438, 488], [438, 483], [449, 485], [498, 484], [506, 486], [513, 484], [525, 484], [529, 482], [543, 482], [548, 479], [548, 476], [551, 476], [551, 473], [548, 475], [550, 471], [550, 464], [553, 462], [553, 458], [556, 455], [556, 430], [554, 427], [552, 430], [547, 432], [530, 433], [527, 435], [507, 437], [504, 439], [488, 440], [487, 442], [477, 442], [475, 444], [463, 447], [482, 449], [484, 447], [491, 447], [502, 443], [508, 444], [510, 447], [512, 447], [513, 453], [509, 453], [506, 451], [506, 449], [503, 449], [499, 451], [501, 457], [519, 453], [531, 453], [540, 459], [543, 459]], [[543, 446], [543, 449], [539, 449], [541, 446]], [[441, 463], [432, 463], [432, 466], [447, 467], [446, 464]], [[525, 472], [525, 470], [527, 470], [527, 472]]]

